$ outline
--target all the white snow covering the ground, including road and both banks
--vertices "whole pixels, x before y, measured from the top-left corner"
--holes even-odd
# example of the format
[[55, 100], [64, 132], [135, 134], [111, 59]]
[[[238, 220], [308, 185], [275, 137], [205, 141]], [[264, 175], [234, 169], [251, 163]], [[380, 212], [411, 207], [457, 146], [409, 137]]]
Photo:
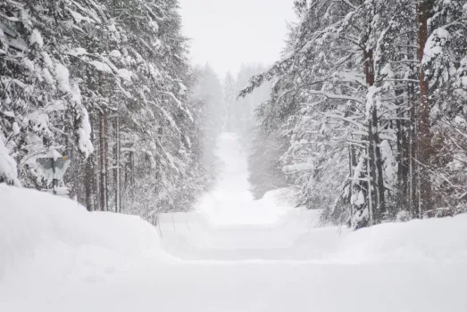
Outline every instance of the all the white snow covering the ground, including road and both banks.
[[289, 191], [253, 201], [238, 151], [223, 135], [202, 211], [155, 228], [0, 185], [0, 311], [465, 311], [467, 216], [316, 227]]

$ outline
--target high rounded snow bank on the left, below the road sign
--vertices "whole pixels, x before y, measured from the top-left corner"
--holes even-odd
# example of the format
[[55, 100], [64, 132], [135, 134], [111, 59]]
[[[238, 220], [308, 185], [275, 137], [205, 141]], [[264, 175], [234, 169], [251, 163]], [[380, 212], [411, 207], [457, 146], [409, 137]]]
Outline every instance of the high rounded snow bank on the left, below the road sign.
[[104, 272], [141, 255], [169, 257], [154, 227], [138, 217], [89, 213], [76, 201], [7, 185], [0, 185], [0, 250], [0, 279], [65, 267]]

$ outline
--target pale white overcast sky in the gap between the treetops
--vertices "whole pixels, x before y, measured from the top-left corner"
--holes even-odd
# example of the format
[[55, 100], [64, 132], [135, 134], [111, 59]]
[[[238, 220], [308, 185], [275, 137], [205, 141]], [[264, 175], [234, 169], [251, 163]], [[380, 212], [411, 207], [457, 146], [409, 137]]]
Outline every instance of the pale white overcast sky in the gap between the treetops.
[[293, 0], [179, 0], [183, 33], [192, 38], [191, 58], [209, 62], [223, 78], [242, 63], [279, 59], [294, 21]]

